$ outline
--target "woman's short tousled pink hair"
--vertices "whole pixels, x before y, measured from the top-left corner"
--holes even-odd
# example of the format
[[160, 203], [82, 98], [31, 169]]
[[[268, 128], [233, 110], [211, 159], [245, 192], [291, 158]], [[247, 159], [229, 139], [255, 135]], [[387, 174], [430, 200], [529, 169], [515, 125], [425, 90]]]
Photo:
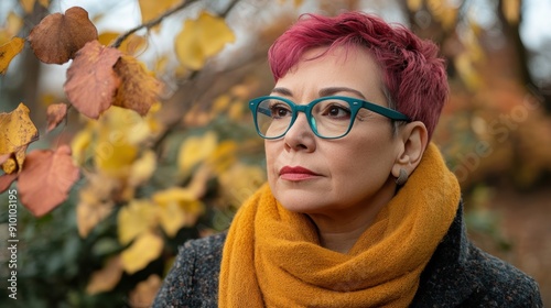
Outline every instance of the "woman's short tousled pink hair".
[[372, 53], [382, 70], [390, 108], [423, 122], [431, 139], [450, 91], [445, 62], [433, 42], [403, 25], [391, 26], [361, 12], [334, 18], [304, 14], [268, 52], [273, 78], [283, 77], [311, 48], [350, 45], [366, 46]]

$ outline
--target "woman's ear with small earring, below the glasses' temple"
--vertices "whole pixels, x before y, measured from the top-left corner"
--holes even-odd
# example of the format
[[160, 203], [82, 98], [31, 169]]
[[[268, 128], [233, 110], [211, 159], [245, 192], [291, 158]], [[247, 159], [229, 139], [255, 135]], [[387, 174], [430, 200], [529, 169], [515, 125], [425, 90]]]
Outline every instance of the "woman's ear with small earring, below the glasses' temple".
[[426, 127], [421, 121], [408, 123], [400, 129], [397, 138], [400, 142], [400, 150], [392, 166], [392, 175], [399, 177], [400, 169], [411, 175], [421, 162], [429, 143]]

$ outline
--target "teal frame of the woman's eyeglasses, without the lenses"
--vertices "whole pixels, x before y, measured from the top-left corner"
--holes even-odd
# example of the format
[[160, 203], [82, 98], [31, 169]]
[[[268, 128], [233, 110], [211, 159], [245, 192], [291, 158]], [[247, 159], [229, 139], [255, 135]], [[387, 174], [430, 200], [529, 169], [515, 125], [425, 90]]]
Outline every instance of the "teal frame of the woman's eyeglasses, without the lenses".
[[[289, 122], [289, 127], [287, 128], [287, 130], [283, 133], [281, 133], [280, 135], [277, 135], [277, 136], [266, 136], [266, 135], [263, 135], [260, 132], [260, 129], [258, 128], [258, 121], [257, 121], [258, 107], [259, 107], [260, 102], [262, 102], [264, 100], [268, 100], [268, 99], [281, 100], [281, 101], [288, 103], [291, 107], [291, 112], [292, 112], [291, 122]], [[323, 135], [320, 135], [317, 133], [317, 129], [315, 129], [315, 127], [313, 127], [313, 124], [312, 124], [312, 119], [313, 119], [313, 117], [312, 117], [312, 108], [316, 103], [318, 103], [320, 101], [331, 100], [331, 99], [338, 99], [338, 100], [346, 101], [349, 105], [349, 107], [350, 107], [350, 123], [348, 124], [348, 130], [346, 130], [345, 133], [343, 133], [342, 135], [338, 135], [338, 136], [323, 136]], [[287, 98], [283, 98], [283, 97], [278, 97], [278, 96], [262, 96], [262, 97], [258, 97], [258, 98], [249, 100], [249, 109], [250, 109], [250, 111], [252, 113], [252, 119], [255, 121], [255, 128], [257, 129], [257, 133], [262, 139], [267, 139], [267, 140], [274, 140], [274, 139], [280, 139], [280, 138], [284, 136], [287, 134], [287, 132], [293, 127], [294, 121], [299, 117], [299, 112], [303, 112], [306, 116], [306, 120], [309, 122], [309, 127], [312, 130], [312, 132], [314, 132], [314, 134], [316, 136], [318, 136], [321, 139], [341, 139], [341, 138], [344, 138], [345, 135], [347, 135], [350, 132], [352, 127], [353, 127], [354, 122], [356, 121], [355, 120], [356, 116], [358, 114], [358, 111], [361, 108], [365, 108], [365, 109], [367, 109], [369, 111], [378, 113], [378, 114], [380, 114], [382, 117], [386, 117], [386, 118], [388, 118], [390, 120], [393, 120], [393, 121], [403, 121], [403, 122], [408, 122], [408, 123], [411, 122], [411, 119], [408, 118], [408, 116], [406, 116], [406, 114], [403, 114], [403, 113], [401, 113], [399, 111], [396, 111], [396, 110], [387, 108], [387, 107], [382, 107], [380, 105], [376, 105], [376, 103], [369, 102], [367, 100], [363, 100], [363, 99], [358, 99], [358, 98], [352, 98], [352, 97], [345, 97], [345, 96], [321, 97], [321, 98], [312, 100], [307, 105], [298, 105], [298, 103], [293, 102], [290, 99], [287, 99]], [[264, 113], [262, 111], [259, 111], [259, 112]]]

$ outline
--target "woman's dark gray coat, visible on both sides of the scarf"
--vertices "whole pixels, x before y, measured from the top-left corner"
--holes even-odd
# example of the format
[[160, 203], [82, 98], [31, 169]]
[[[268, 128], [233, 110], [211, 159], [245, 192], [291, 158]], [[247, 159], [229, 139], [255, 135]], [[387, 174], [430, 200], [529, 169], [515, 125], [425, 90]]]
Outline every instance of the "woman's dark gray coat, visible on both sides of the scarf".
[[[217, 307], [226, 233], [186, 242], [153, 307]], [[246, 296], [246, 295], [244, 295]], [[543, 307], [538, 284], [476, 248], [466, 237], [463, 210], [421, 275], [410, 307]], [[240, 308], [240, 307], [239, 307]]]

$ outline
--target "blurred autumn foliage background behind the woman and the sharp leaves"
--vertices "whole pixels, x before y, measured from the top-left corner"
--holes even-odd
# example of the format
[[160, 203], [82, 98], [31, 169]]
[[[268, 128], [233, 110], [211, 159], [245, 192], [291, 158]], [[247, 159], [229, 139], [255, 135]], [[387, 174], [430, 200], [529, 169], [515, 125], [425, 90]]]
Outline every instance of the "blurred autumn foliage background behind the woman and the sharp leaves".
[[[88, 11], [107, 44], [179, 2], [3, 0], [0, 45], [73, 6]], [[2, 249], [0, 306], [147, 307], [177, 246], [225, 230], [266, 179], [263, 142], [246, 102], [273, 86], [268, 47], [301, 13], [342, 10], [375, 12], [441, 46], [452, 95], [434, 140], [461, 180], [469, 232], [536, 277], [551, 305], [545, 274], [551, 246], [544, 240], [551, 234], [551, 24], [548, 19], [526, 30], [538, 6], [536, 0], [195, 1], [132, 34], [120, 48], [154, 72], [164, 84], [163, 97], [143, 118], [111, 107], [96, 121], [73, 110], [62, 128], [32, 144], [71, 144], [82, 178], [69, 198], [42, 218], [19, 208], [18, 300], [8, 298], [9, 256]], [[210, 21], [190, 25], [204, 11], [225, 20], [235, 41], [227, 37], [222, 52], [190, 64], [190, 46], [209, 50], [210, 36], [219, 32]], [[192, 43], [181, 37], [184, 23], [196, 28]], [[532, 31], [540, 32], [537, 40]], [[65, 69], [40, 64], [26, 48], [0, 79], [0, 111], [23, 101], [45, 131], [45, 108], [66, 101]], [[8, 205], [7, 194], [0, 200]], [[7, 221], [2, 206], [0, 222]], [[2, 242], [7, 229], [1, 224]]]

